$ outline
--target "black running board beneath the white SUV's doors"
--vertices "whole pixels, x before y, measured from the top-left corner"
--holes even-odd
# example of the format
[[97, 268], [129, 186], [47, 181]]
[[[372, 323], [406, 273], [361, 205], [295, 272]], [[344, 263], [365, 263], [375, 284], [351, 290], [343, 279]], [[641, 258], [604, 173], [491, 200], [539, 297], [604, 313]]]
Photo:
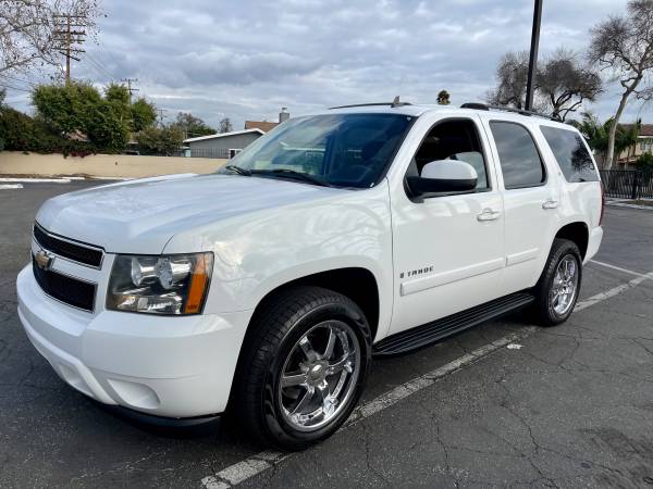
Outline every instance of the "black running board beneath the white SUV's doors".
[[521, 309], [534, 299], [530, 293], [517, 292], [485, 302], [442, 319], [389, 336], [374, 344], [372, 353], [374, 356], [390, 356], [427, 347], [456, 333]]

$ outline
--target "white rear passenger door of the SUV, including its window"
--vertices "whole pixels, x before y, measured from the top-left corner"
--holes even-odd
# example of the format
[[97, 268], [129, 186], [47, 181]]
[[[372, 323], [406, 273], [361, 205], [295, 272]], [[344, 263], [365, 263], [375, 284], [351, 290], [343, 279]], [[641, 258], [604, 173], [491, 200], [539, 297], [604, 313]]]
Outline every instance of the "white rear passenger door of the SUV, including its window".
[[560, 189], [540, 145], [541, 134], [529, 123], [502, 114], [481, 115], [497, 162], [504, 200], [504, 288], [515, 292], [540, 277], [555, 235]]

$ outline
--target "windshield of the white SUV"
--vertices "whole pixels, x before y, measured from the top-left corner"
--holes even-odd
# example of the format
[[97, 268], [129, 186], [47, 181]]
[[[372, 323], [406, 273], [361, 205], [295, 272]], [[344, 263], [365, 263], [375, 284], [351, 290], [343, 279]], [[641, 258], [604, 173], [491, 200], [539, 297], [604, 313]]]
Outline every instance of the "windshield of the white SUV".
[[402, 114], [293, 118], [248, 146], [221, 173], [369, 188], [385, 172], [412, 120]]

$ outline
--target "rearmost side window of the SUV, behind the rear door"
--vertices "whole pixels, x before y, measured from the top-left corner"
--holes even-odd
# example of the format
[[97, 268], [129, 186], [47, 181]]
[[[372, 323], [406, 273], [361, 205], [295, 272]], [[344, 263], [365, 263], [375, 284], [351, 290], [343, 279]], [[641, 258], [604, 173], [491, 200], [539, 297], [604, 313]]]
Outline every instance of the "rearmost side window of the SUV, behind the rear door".
[[577, 133], [549, 126], [540, 129], [567, 181], [599, 181], [592, 156]]

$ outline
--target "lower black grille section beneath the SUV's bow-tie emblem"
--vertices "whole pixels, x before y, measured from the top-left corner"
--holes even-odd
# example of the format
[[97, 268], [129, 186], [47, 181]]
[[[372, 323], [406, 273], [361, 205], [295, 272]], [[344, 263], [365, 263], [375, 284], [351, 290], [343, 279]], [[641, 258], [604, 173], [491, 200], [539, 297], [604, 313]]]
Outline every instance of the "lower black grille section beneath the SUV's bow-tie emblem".
[[38, 285], [48, 296], [74, 308], [93, 312], [96, 285], [62, 275], [51, 269], [39, 268], [34, 256], [32, 268]]

